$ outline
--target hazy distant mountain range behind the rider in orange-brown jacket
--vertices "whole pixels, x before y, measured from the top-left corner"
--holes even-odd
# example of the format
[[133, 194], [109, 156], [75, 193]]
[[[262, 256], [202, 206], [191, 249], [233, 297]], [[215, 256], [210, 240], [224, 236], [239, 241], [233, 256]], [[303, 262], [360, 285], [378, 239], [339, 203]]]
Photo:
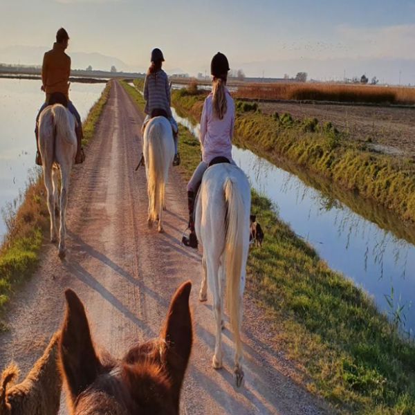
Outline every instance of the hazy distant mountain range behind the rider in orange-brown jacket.
[[[0, 63], [42, 65], [43, 55], [50, 46], [7, 46], [0, 48]], [[145, 71], [145, 68], [130, 66], [121, 59], [113, 56], [102, 55], [101, 53], [72, 52], [71, 56], [73, 69], [85, 69], [91, 65], [93, 69], [109, 71], [111, 66], [116, 66], [117, 71]]]

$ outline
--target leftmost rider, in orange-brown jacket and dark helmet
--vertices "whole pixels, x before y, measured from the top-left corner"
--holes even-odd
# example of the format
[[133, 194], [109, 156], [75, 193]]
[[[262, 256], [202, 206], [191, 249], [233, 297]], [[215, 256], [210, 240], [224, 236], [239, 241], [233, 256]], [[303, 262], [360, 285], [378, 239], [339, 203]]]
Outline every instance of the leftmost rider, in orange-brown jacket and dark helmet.
[[82, 122], [80, 114], [77, 112], [73, 103], [69, 100], [69, 75], [71, 74], [71, 58], [65, 53], [65, 49], [68, 47], [69, 36], [64, 28], [60, 28], [56, 33], [56, 42], [53, 44], [52, 50], [49, 50], [44, 54], [44, 60], [42, 64], [42, 91], [46, 92], [46, 101], [40, 107], [39, 113], [36, 117], [36, 164], [42, 165], [42, 157], [39, 152], [39, 116], [40, 113], [48, 106], [50, 97], [53, 93], [60, 93], [64, 95], [67, 100], [68, 110], [73, 113], [77, 121], [75, 128], [77, 138], [77, 151], [75, 156], [75, 164], [82, 163], [84, 161], [84, 151], [82, 149]]

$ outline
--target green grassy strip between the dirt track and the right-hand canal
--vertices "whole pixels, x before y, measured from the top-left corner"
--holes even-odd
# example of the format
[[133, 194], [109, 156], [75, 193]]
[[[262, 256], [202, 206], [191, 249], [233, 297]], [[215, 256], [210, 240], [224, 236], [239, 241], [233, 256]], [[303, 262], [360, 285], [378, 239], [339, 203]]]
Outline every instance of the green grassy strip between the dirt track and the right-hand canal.
[[[179, 146], [187, 179], [200, 160], [199, 142], [181, 127]], [[415, 344], [400, 338], [396, 324], [255, 192], [252, 212], [266, 237], [262, 248], [250, 250], [247, 292], [264, 308], [304, 385], [345, 414], [414, 414]]]

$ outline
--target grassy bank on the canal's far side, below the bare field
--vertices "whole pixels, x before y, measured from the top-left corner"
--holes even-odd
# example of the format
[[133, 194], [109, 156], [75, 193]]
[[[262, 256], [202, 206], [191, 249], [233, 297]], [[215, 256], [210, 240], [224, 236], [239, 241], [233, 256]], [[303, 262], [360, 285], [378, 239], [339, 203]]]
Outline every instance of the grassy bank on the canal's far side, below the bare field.
[[[203, 93], [174, 91], [175, 107], [201, 115]], [[370, 151], [353, 142], [330, 122], [316, 118], [294, 120], [289, 113], [266, 116], [255, 103], [237, 102], [235, 142], [275, 162], [283, 156], [360, 196], [415, 221], [415, 160]]]

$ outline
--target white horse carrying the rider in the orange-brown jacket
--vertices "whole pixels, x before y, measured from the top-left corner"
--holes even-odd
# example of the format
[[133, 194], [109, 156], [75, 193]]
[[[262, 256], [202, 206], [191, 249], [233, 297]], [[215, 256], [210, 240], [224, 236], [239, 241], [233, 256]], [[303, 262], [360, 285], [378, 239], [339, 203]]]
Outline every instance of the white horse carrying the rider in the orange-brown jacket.
[[[55, 209], [59, 208], [59, 257], [66, 253], [66, 205], [68, 204], [69, 178], [75, 162], [77, 140], [75, 117], [61, 104], [46, 107], [39, 118], [39, 150], [42, 155], [44, 181], [50, 214], [50, 241], [57, 240]], [[57, 175], [61, 172], [60, 203]]]

